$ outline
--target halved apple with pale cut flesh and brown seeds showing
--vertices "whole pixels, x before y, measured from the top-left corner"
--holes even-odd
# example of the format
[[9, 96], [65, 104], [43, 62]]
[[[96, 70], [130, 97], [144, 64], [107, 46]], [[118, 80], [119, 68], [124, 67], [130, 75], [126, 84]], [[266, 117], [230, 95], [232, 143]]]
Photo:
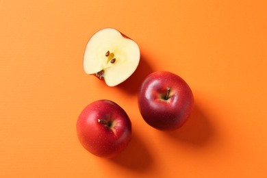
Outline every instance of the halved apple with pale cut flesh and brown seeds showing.
[[140, 61], [138, 44], [114, 28], [97, 31], [86, 45], [84, 71], [116, 86], [129, 78]]

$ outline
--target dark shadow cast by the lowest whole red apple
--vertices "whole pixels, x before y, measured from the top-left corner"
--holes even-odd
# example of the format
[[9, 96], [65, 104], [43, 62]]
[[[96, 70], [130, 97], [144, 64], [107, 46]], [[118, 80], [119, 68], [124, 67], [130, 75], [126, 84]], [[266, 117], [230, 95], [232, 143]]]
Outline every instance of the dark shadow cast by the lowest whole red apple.
[[149, 150], [134, 133], [127, 148], [122, 153], [112, 158], [111, 161], [138, 172], [147, 170], [153, 163]]

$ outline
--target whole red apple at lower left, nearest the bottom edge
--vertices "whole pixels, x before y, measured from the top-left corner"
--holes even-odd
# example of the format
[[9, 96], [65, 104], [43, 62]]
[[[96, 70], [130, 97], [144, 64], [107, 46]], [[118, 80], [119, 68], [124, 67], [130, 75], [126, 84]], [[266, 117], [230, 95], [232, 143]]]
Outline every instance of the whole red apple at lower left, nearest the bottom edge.
[[115, 157], [131, 140], [131, 121], [122, 107], [98, 100], [81, 111], [76, 124], [81, 145], [99, 157]]

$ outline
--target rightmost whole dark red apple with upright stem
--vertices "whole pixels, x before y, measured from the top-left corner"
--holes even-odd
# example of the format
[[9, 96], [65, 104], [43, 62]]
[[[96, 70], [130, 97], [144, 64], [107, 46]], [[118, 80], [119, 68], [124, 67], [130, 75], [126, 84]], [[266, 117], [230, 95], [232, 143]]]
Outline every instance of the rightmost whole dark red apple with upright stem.
[[192, 90], [181, 77], [168, 71], [148, 75], [138, 92], [142, 118], [156, 129], [175, 130], [188, 120], [194, 105]]

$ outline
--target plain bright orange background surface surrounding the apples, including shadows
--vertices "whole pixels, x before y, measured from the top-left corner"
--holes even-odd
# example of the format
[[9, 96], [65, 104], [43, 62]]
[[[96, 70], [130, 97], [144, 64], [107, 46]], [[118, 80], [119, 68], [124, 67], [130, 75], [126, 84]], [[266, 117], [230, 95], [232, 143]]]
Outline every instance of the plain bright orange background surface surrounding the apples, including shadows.
[[[267, 177], [267, 1], [0, 1], [0, 177]], [[90, 36], [114, 27], [138, 42], [136, 73], [110, 88], [82, 68]], [[138, 88], [171, 71], [195, 97], [172, 132], [140, 116]], [[131, 118], [112, 160], [79, 143], [97, 99]]]

